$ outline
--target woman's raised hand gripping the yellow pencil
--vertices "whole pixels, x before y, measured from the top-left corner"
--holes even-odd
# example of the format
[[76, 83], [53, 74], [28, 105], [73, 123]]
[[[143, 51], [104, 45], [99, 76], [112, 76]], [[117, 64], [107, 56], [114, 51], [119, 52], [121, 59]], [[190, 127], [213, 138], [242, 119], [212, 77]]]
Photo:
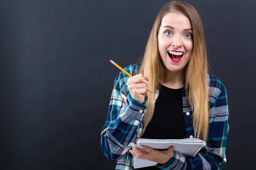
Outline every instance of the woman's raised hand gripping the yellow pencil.
[[145, 96], [148, 89], [148, 77], [143, 77], [142, 74], [137, 74], [130, 77], [127, 82], [131, 97], [139, 103], [145, 102]]

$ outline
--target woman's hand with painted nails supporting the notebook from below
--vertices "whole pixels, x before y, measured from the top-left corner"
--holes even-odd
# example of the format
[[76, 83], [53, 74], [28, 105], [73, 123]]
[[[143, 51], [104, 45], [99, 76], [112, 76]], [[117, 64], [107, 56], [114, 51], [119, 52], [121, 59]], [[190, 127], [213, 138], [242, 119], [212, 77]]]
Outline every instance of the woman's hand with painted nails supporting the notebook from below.
[[145, 145], [141, 145], [141, 148], [139, 148], [133, 143], [130, 152], [137, 159], [145, 159], [159, 164], [166, 164], [173, 157], [173, 146], [170, 146], [168, 150], [156, 150]]

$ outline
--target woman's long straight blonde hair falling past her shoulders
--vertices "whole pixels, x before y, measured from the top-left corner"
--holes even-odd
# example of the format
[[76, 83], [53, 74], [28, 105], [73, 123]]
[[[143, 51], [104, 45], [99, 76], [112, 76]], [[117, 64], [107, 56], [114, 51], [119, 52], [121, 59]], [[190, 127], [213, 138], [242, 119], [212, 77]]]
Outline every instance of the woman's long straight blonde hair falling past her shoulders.
[[[193, 29], [193, 51], [185, 70], [186, 96], [192, 107], [195, 138], [207, 142], [209, 105], [208, 105], [208, 62], [206, 43], [201, 18], [191, 5], [185, 2], [172, 1], [167, 3], [157, 14], [148, 38], [145, 54], [139, 73], [149, 77], [149, 88], [154, 91], [163, 82], [166, 72], [158, 50], [158, 32], [163, 16], [169, 12], [180, 13], [189, 18]], [[146, 103], [145, 124], [143, 133], [154, 113], [154, 95], [148, 94]]]

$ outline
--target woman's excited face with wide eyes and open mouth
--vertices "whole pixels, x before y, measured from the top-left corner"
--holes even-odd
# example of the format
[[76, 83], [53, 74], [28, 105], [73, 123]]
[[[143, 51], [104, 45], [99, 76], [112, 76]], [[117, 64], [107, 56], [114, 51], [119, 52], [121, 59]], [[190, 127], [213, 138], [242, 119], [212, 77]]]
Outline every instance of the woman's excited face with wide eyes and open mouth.
[[193, 50], [192, 26], [183, 14], [164, 15], [158, 33], [158, 49], [169, 71], [182, 71]]

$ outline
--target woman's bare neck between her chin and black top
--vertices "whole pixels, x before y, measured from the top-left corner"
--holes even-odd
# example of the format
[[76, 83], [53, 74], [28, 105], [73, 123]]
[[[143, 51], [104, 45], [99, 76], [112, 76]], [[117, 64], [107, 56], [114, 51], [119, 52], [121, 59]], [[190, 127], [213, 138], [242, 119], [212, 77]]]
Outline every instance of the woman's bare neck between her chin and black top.
[[183, 70], [176, 72], [167, 71], [166, 78], [162, 82], [162, 85], [173, 89], [183, 88], [185, 86], [184, 78], [185, 74]]

